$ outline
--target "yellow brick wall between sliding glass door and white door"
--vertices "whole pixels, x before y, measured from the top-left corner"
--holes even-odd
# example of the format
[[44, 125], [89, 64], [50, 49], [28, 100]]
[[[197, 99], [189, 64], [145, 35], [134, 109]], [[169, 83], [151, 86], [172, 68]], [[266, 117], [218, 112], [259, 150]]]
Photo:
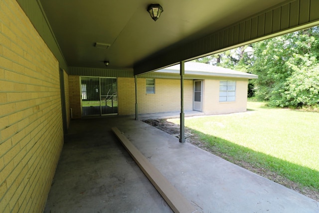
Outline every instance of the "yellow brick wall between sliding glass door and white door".
[[[184, 80], [184, 110], [192, 110], [192, 80]], [[119, 115], [135, 114], [135, 79], [118, 78]], [[138, 78], [139, 113], [180, 110], [180, 80], [155, 79], [155, 94], [146, 94], [146, 79]]]

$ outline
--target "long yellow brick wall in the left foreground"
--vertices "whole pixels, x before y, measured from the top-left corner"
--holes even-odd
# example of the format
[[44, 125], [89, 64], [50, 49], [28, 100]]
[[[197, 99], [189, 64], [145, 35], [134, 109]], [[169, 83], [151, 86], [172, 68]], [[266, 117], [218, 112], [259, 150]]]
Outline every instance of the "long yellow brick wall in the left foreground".
[[0, 212], [43, 212], [63, 146], [59, 66], [15, 0], [0, 0]]

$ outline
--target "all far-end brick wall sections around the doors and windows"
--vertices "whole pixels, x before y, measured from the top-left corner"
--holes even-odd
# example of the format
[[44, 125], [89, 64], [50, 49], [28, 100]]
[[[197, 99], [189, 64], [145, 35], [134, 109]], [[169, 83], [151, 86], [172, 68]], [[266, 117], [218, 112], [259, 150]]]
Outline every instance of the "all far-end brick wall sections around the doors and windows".
[[[69, 75], [72, 118], [81, 118], [80, 76]], [[139, 114], [180, 111], [180, 80], [155, 78], [155, 94], [146, 93], [146, 78], [138, 78]], [[219, 102], [219, 81], [236, 81], [236, 101]], [[135, 114], [135, 79], [118, 77], [118, 114]], [[215, 78], [202, 80], [202, 112], [206, 115], [247, 110], [248, 79]], [[68, 108], [67, 108], [68, 109]], [[184, 110], [193, 110], [193, 80], [184, 80]]]

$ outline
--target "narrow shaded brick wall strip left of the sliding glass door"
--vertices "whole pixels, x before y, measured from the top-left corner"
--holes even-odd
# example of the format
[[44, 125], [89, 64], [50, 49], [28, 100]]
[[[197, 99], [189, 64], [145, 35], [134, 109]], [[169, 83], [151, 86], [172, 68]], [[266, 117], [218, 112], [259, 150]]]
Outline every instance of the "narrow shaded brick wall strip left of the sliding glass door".
[[69, 101], [69, 109], [72, 109], [72, 118], [81, 118], [80, 76], [78, 75], [69, 75]]

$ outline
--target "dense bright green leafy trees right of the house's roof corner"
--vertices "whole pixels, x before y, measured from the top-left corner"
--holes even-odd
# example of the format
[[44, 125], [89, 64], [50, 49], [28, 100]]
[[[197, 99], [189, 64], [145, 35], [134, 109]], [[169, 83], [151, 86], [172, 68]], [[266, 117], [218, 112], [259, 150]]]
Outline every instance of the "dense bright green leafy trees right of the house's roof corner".
[[259, 76], [259, 99], [280, 107], [318, 104], [318, 27], [260, 41], [253, 48], [251, 71]]

